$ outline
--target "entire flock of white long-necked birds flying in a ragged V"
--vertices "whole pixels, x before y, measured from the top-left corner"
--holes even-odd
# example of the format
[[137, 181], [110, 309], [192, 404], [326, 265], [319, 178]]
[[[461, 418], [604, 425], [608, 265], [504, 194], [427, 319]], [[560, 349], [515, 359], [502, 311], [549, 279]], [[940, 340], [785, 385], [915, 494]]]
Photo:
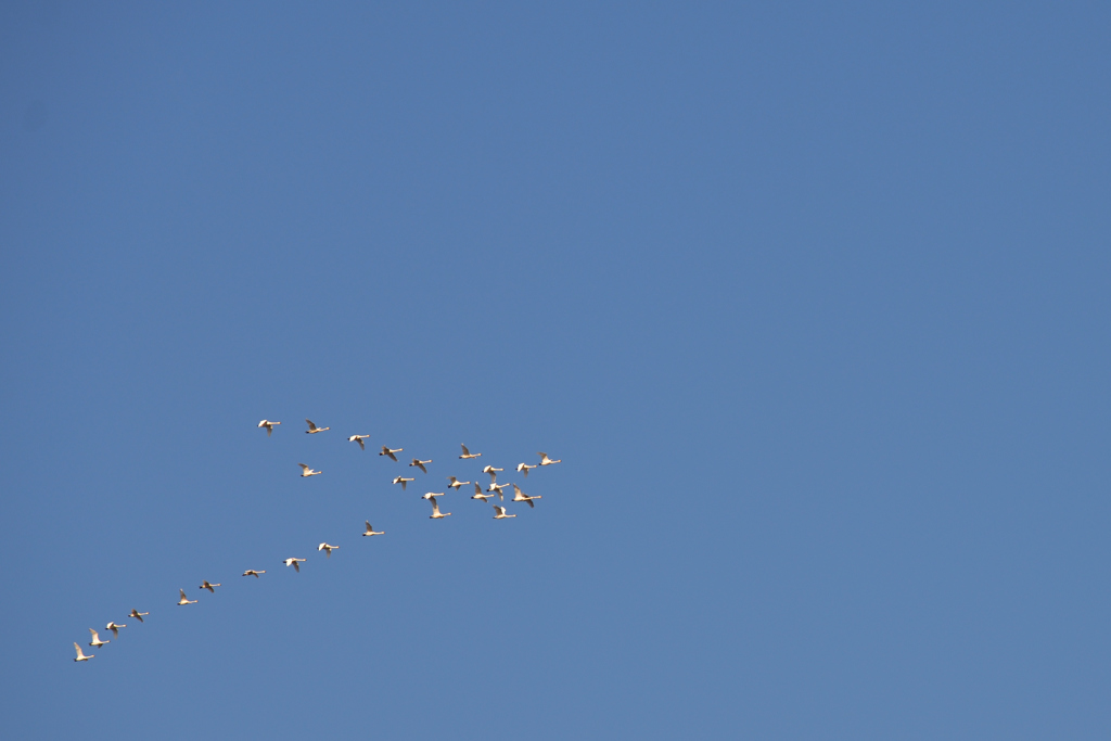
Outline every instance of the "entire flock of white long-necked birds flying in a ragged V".
[[[306, 434], [316, 434], [318, 432], [324, 432], [324, 431], [331, 429], [331, 428], [327, 428], [327, 427], [317, 427], [316, 424], [313, 424], [312, 420], [304, 420], [304, 421], [308, 422], [308, 424], [309, 424], [309, 429], [304, 431]], [[266, 430], [267, 430], [267, 437], [270, 437], [271, 433], [273, 433], [274, 427], [278, 425], [278, 424], [281, 424], [281, 422], [272, 422], [270, 420], [262, 420], [261, 422], [259, 422], [258, 427], [266, 428]], [[367, 450], [367, 444], [363, 442], [363, 440], [367, 440], [368, 438], [370, 438], [369, 434], [352, 434], [350, 438], [348, 438], [348, 441], [349, 442], [358, 442], [359, 443], [359, 448], [361, 448], [362, 450]], [[480, 458], [482, 455], [482, 453], [472, 453], [470, 450], [467, 449], [467, 445], [461, 444], [460, 447], [463, 449], [463, 453], [459, 457], [461, 460], [471, 460], [473, 458]], [[397, 461], [398, 457], [394, 453], [400, 453], [403, 450], [404, 450], [403, 448], [389, 448], [387, 445], [382, 445], [382, 450], [378, 454], [379, 455], [386, 455], [390, 460]], [[548, 453], [537, 453], [537, 454], [540, 455], [540, 462], [538, 464], [536, 464], [536, 465], [529, 465], [528, 463], [518, 463], [518, 465], [517, 465], [517, 472], [518, 473], [522, 473], [526, 477], [528, 477], [529, 475], [529, 471], [531, 469], [540, 468], [542, 465], [552, 465], [554, 463], [562, 463], [563, 462], [562, 460], [552, 460], [552, 459], [550, 459], [548, 457]], [[431, 459], [429, 459], [427, 461], [422, 461], [419, 458], [414, 458], [414, 459], [412, 459], [412, 462], [409, 463], [409, 467], [410, 468], [418, 468], [422, 472], [428, 473], [428, 469], [426, 467], [429, 463], [431, 463], [431, 462], [432, 462]], [[311, 468], [309, 468], [304, 463], [298, 463], [298, 465], [301, 467], [301, 475], [302, 477], [319, 475], [320, 473], [322, 473], [322, 471], [314, 471], [314, 470], [312, 470]], [[514, 502], [524, 502], [530, 508], [536, 507], [536, 504], [532, 503], [533, 500], [541, 499], [541, 497], [530, 497], [529, 494], [526, 494], [523, 491], [521, 491], [520, 487], [518, 487], [516, 483], [512, 483], [512, 482], [498, 483], [498, 473], [500, 473], [500, 472], [502, 472], [504, 470], [506, 469], [494, 468], [493, 465], [487, 465], [486, 468], [482, 469], [482, 473], [489, 473], [490, 474], [490, 485], [487, 488], [486, 491], [482, 491], [482, 485], [480, 483], [478, 483], [477, 481], [474, 481], [474, 482], [472, 482], [472, 481], [459, 481], [453, 475], [449, 475], [448, 477], [448, 482], [449, 483], [448, 483], [447, 488], [451, 489], [453, 491], [459, 491], [462, 487], [467, 487], [467, 485], [470, 485], [470, 484], [473, 483], [474, 484], [474, 495], [471, 497], [471, 499], [478, 499], [478, 500], [481, 500], [481, 501], [487, 501], [489, 499], [493, 499], [494, 497], [498, 497], [499, 501], [504, 502], [506, 501], [506, 494], [504, 494], [503, 490], [507, 487], [512, 487], [513, 488], [513, 499], [511, 501], [514, 501]], [[393, 479], [392, 483], [396, 483], [396, 484], [400, 483], [401, 484], [401, 489], [404, 490], [406, 489], [406, 484], [408, 484], [411, 481], [416, 481], [416, 480], [417, 480], [416, 478], [407, 478], [407, 477], [403, 477], [403, 475], [398, 475], [398, 477], [396, 477]], [[451, 515], [451, 512], [441, 512], [440, 511], [440, 503], [437, 500], [437, 497], [443, 497], [444, 493], [447, 493], [447, 492], [443, 492], [443, 491], [440, 491], [440, 492], [430, 491], [430, 492], [424, 493], [421, 497], [422, 499], [426, 499], [426, 500], [428, 500], [429, 502], [432, 503], [432, 514], [429, 515], [430, 520], [440, 520], [442, 518]], [[509, 514], [507, 512], [506, 507], [503, 504], [493, 504], [493, 510], [494, 510], [494, 515], [493, 515], [494, 520], [506, 520], [506, 519], [509, 519], [509, 518], [516, 518], [517, 517], [516, 514]], [[362, 533], [363, 535], [384, 535], [386, 534], [384, 531], [376, 531], [370, 525], [370, 521], [369, 520], [367, 520], [366, 523], [367, 523], [367, 529], [363, 531], [363, 533]], [[339, 548], [339, 545], [332, 545], [332, 544], [327, 543], [327, 542], [320, 543], [319, 545], [317, 545], [317, 550], [318, 551], [322, 551], [324, 553], [324, 555], [327, 555], [328, 558], [331, 558], [332, 551], [334, 551], [338, 548]], [[283, 559], [282, 563], [284, 563], [287, 567], [293, 567], [293, 570], [297, 571], [298, 573], [300, 573], [301, 572], [301, 565], [300, 564], [304, 563], [308, 559], [289, 558], [289, 559]], [[258, 579], [261, 574], [264, 574], [264, 573], [266, 573], [264, 569], [262, 569], [262, 570], [248, 569], [247, 571], [243, 572], [242, 575], [244, 575], [244, 577], [254, 577], [256, 579]], [[201, 585], [198, 587], [198, 589], [207, 589], [209, 592], [211, 592], [211, 593], [214, 594], [217, 587], [220, 587], [220, 584], [219, 583], [214, 583], [214, 584], [210, 583], [206, 579], [206, 580], [203, 580], [201, 582]], [[178, 592], [181, 594], [181, 598], [178, 600], [178, 604], [179, 605], [197, 604], [197, 602], [198, 602], [197, 600], [191, 600], [188, 597], [186, 597], [186, 590], [179, 589]], [[133, 618], [133, 619], [138, 620], [139, 622], [143, 622], [142, 617], [143, 615], [149, 615], [149, 614], [150, 614], [150, 612], [139, 612], [138, 610], [132, 609], [131, 612], [128, 613], [128, 617], [129, 618]], [[120, 637], [120, 629], [121, 628], [127, 628], [127, 624], [124, 624], [124, 623], [118, 623], [118, 622], [116, 622], [113, 620], [113, 621], [109, 622], [108, 625], [104, 627], [104, 630], [112, 631], [112, 638], [119, 638]], [[100, 639], [100, 634], [94, 629], [92, 629], [92, 628], [89, 629], [89, 632], [92, 633], [92, 640], [89, 641], [89, 645], [91, 645], [94, 649], [96, 648], [100, 648], [101, 645], [106, 645], [107, 643], [111, 642], [111, 640], [102, 641]], [[77, 649], [77, 658], [73, 659], [73, 661], [88, 661], [89, 659], [92, 659], [96, 655], [96, 654], [92, 654], [92, 653], [86, 654], [81, 650], [81, 647], [79, 644], [77, 644], [77, 643], [73, 643], [73, 648]]]

